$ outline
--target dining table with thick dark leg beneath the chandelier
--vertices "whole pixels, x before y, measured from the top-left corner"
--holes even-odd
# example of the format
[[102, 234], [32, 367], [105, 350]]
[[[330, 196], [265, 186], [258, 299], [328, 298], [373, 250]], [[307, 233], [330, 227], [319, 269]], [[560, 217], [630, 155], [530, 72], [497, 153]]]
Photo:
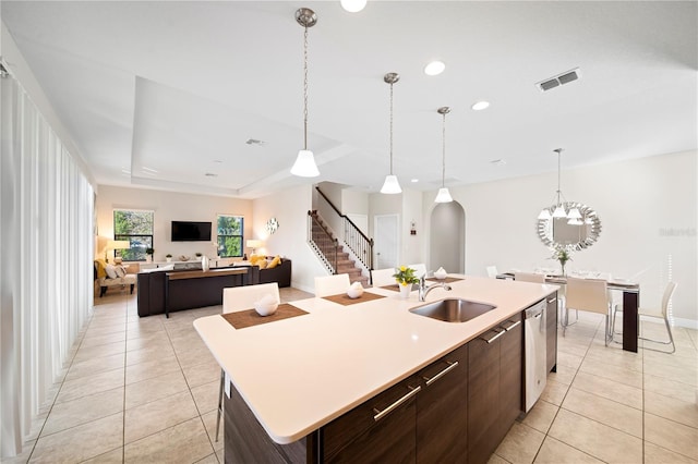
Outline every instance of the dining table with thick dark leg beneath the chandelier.
[[[515, 272], [508, 271], [497, 274], [497, 279], [514, 280]], [[599, 279], [600, 277], [590, 277]], [[640, 284], [625, 279], [603, 279], [609, 290], [623, 292], [623, 350], [637, 353], [637, 340], [639, 332], [638, 305], [640, 300]], [[566, 285], [567, 276], [545, 274], [545, 282], [556, 285]]]

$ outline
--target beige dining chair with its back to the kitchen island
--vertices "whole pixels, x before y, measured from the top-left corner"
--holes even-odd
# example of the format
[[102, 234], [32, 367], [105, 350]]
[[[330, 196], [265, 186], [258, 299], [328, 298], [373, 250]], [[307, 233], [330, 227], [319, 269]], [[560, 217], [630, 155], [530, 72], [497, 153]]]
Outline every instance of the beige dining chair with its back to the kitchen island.
[[565, 317], [563, 323], [563, 337], [569, 323], [569, 309], [586, 310], [602, 314], [605, 319], [604, 344], [609, 346], [611, 333], [611, 305], [609, 303], [609, 289], [605, 280], [567, 278]]

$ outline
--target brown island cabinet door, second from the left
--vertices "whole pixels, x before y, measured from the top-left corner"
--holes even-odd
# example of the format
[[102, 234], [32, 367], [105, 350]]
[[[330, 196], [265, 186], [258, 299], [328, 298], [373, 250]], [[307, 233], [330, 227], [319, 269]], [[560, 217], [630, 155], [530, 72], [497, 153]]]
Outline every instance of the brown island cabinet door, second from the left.
[[468, 454], [468, 345], [419, 373], [417, 462], [465, 463]]

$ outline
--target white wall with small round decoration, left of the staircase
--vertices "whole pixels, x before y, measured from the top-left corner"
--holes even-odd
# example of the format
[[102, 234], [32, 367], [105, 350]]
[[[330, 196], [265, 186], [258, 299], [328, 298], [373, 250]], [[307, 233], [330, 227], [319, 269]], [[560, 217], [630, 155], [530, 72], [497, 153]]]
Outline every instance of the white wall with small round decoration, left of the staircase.
[[[327, 276], [327, 270], [308, 245], [308, 211], [312, 208], [313, 186], [288, 188], [252, 202], [255, 236], [264, 240], [269, 255], [281, 255], [292, 260], [291, 285], [314, 292], [315, 276]], [[265, 224], [276, 218], [279, 228], [273, 235]]]

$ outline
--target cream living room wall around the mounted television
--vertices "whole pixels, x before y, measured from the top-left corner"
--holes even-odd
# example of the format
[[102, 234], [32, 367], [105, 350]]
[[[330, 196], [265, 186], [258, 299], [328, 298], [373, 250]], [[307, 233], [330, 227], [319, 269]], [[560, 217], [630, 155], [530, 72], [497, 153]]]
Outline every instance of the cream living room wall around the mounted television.
[[[171, 221], [210, 221], [212, 239], [215, 240], [217, 215], [242, 216], [244, 239], [260, 237], [252, 230], [252, 200], [249, 199], [100, 185], [96, 208], [98, 234], [109, 239], [113, 237], [115, 209], [154, 210], [153, 248], [156, 261], [164, 261], [168, 253], [174, 259], [180, 255], [193, 258], [196, 252], [209, 258], [216, 257], [216, 247], [212, 242], [171, 242]], [[249, 255], [251, 249], [245, 248], [245, 252]], [[104, 249], [97, 251], [97, 255], [104, 257]]]

